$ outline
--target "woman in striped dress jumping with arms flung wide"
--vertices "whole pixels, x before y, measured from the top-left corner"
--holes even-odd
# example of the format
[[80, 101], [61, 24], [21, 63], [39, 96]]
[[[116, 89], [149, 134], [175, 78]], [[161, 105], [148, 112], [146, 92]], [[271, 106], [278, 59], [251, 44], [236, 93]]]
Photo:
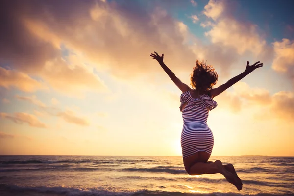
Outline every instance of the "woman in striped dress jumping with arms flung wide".
[[213, 89], [213, 85], [218, 80], [218, 74], [211, 66], [197, 60], [196, 67], [194, 67], [191, 74], [191, 85], [193, 87], [191, 89], [188, 85], [181, 82], [164, 64], [164, 54], [159, 56], [156, 52], [154, 53], [151, 53], [150, 56], [158, 61], [164, 71], [182, 91], [180, 111], [182, 112], [184, 125], [181, 134], [181, 147], [185, 170], [189, 175], [221, 173], [227, 181], [234, 184], [238, 190], [241, 190], [243, 186], [242, 181], [232, 164], [222, 165], [220, 160], [208, 162], [214, 145], [214, 138], [206, 122], [208, 111], [217, 107], [217, 102], [213, 98], [220, 95], [256, 68], [262, 67], [263, 63], [258, 61], [253, 65], [249, 65], [247, 61], [245, 72]]

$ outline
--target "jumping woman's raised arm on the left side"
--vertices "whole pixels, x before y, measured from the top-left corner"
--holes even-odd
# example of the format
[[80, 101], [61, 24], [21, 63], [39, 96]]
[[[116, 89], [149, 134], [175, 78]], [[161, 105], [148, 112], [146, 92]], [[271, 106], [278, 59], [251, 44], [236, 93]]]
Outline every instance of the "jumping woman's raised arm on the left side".
[[188, 90], [190, 90], [190, 88], [189, 88], [189, 86], [187, 85], [187, 84], [184, 84], [179, 78], [177, 78], [176, 76], [175, 76], [175, 74], [172, 72], [172, 70], [170, 70], [167, 66], [166, 66], [166, 64], [164, 64], [164, 62], [163, 62], [163, 56], [164, 56], [164, 54], [162, 54], [162, 56], [159, 56], [158, 54], [157, 54], [157, 52], [154, 52], [155, 54], [150, 54], [150, 56], [153, 58], [153, 59], [155, 59], [155, 60], [157, 60], [158, 61], [158, 63], [160, 64], [160, 66], [163, 68], [163, 70], [169, 75], [169, 77], [172, 79], [172, 81], [175, 83], [175, 85], [177, 86], [177, 87], [179, 87], [179, 89], [184, 93], [184, 92], [186, 92], [186, 91], [188, 91]]

